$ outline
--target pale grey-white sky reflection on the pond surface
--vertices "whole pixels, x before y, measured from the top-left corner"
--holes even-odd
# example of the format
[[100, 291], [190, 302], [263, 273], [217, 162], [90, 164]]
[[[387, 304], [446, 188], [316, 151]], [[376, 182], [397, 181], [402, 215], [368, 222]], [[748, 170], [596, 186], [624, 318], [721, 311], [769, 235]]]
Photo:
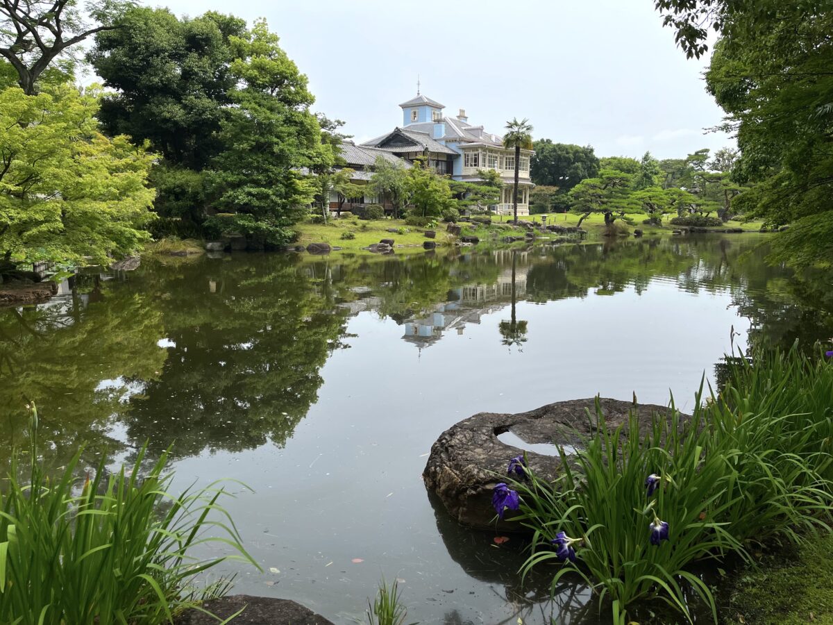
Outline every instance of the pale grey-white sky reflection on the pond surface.
[[[496, 551], [488, 533], [466, 532], [473, 546], [463, 551], [471, 555], [450, 554], [421, 482], [431, 443], [473, 413], [516, 413], [596, 393], [665, 404], [671, 389], [691, 410], [701, 376], [711, 379], [730, 349], [730, 327], [741, 333], [736, 346], [748, 330], [728, 293], [684, 293], [661, 280], [641, 296], [626, 288], [518, 303], [517, 318], [528, 322], [522, 352], [501, 344], [498, 323], [508, 318], [506, 305], [418, 353], [402, 340], [402, 326], [359, 313], [347, 328], [357, 335], [352, 348], [322, 368], [319, 400], [286, 448], [177, 463], [179, 486], [194, 476], [236, 478], [256, 491], [230, 507], [252, 555], [281, 573], [240, 567], [237, 592], [292, 597], [347, 622], [361, 616], [384, 575], [405, 580], [412, 620], [441, 622], [456, 610], [464, 622], [545, 622], [540, 610], [518, 612], [506, 602], [499, 573], [478, 579], [486, 567], [478, 549]], [[352, 563], [357, 557], [364, 562]], [[508, 562], [516, 570], [517, 558]]]

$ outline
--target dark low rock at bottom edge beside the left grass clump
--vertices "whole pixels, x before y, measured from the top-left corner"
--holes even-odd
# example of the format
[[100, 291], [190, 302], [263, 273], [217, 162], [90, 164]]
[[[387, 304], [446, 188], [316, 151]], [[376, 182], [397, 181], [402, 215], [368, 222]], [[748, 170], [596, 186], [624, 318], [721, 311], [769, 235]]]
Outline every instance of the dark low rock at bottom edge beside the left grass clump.
[[[332, 621], [288, 599], [230, 595], [207, 601], [202, 607], [221, 620], [245, 608], [240, 616], [232, 619], [234, 625], [333, 625]], [[176, 625], [217, 625], [219, 621], [198, 610], [188, 610], [175, 622]]]

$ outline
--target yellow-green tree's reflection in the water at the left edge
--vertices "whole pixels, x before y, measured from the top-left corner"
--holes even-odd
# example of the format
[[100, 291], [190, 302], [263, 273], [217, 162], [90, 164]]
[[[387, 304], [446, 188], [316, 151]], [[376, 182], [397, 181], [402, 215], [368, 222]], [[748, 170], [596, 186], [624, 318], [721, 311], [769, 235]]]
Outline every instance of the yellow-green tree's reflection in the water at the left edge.
[[25, 447], [28, 401], [38, 407], [47, 462], [85, 443], [98, 451], [124, 400], [157, 378], [167, 356], [157, 347], [162, 316], [146, 293], [121, 286], [0, 311], [0, 454]]

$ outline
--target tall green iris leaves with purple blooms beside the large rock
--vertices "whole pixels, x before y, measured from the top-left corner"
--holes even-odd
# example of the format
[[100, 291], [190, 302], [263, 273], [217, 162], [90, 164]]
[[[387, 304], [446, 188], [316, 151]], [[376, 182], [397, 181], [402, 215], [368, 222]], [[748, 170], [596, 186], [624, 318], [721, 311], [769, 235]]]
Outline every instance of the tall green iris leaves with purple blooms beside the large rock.
[[[553, 587], [577, 572], [625, 623], [638, 602], [659, 599], [691, 620], [692, 597], [717, 620], [711, 588], [691, 563], [748, 557], [753, 543], [800, 542], [830, 529], [833, 509], [833, 365], [797, 348], [756, 353], [731, 365], [721, 393], [697, 394], [684, 418], [654, 418], [640, 433], [636, 418], [611, 428], [596, 406], [596, 433], [575, 456], [562, 452], [554, 483], [527, 471], [513, 480], [521, 494], [516, 520], [534, 532], [523, 567], [557, 565]], [[648, 496], [645, 480], [661, 476]], [[651, 544], [649, 523], [669, 523], [669, 538]], [[561, 562], [551, 541], [578, 540], [575, 563]]]

